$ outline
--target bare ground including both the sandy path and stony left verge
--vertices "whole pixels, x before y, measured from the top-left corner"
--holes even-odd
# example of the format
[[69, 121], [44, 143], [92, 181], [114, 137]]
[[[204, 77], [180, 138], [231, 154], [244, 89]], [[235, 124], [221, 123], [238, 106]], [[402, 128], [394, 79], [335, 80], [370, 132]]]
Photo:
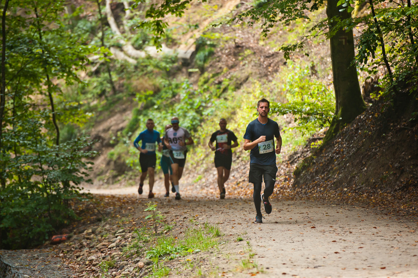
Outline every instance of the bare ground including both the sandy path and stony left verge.
[[[156, 189], [161, 188], [157, 186]], [[104, 221], [77, 228], [59, 245], [39, 250], [0, 251], [21, 277], [138, 277], [152, 274], [153, 263], [144, 252], [126, 256], [124, 248], [135, 239], [135, 228], [147, 225], [144, 212], [148, 192], [137, 188], [94, 190]], [[93, 190], [92, 190], [93, 191]], [[145, 189], [146, 191], [146, 189]], [[168, 223], [166, 235], [181, 237], [190, 227], [218, 226], [216, 250], [161, 261], [168, 277], [296, 277], [296, 278], [412, 278], [418, 277], [417, 219], [373, 207], [326, 201], [271, 200], [273, 212], [263, 224], [250, 198], [196, 196], [184, 189], [182, 199], [152, 200]], [[238, 240], [242, 238], [242, 240]], [[151, 244], [151, 245], [147, 245]], [[146, 250], [154, 243], [141, 243]], [[113, 260], [103, 272], [100, 264]], [[161, 266], [160, 265], [160, 266]]]

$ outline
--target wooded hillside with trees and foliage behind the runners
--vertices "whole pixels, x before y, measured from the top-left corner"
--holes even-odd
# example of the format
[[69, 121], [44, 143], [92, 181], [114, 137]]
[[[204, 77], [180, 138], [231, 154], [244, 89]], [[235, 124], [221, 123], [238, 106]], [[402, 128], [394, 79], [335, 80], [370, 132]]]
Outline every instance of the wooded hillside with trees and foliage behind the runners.
[[[395, 199], [415, 213], [416, 2], [338, 1], [347, 18], [327, 18], [321, 1], [274, 3], [1, 2], [0, 248], [36, 246], [76, 219], [74, 200], [90, 198], [81, 185], [136, 185], [132, 141], [148, 118], [192, 131], [187, 175], [204, 191], [219, 119], [242, 138], [262, 97], [284, 139], [275, 197]], [[270, 24], [274, 8], [287, 18]], [[367, 103], [349, 122], [329, 43], [341, 30]], [[247, 164], [237, 148], [235, 167]], [[245, 195], [246, 177], [231, 189]]]

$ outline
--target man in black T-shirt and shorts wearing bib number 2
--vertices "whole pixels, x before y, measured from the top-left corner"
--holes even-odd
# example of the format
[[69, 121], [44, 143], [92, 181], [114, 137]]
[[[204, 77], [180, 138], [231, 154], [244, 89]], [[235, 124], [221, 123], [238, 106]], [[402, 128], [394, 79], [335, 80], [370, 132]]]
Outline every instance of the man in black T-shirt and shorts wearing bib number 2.
[[[208, 146], [215, 150], [215, 167], [218, 171], [218, 187], [220, 198], [225, 199], [225, 182], [229, 178], [232, 164], [232, 148], [238, 147], [238, 138], [234, 132], [226, 129], [226, 120], [220, 119], [220, 129], [212, 133]], [[215, 146], [213, 142], [216, 141]], [[231, 142], [234, 144], [231, 145]]]

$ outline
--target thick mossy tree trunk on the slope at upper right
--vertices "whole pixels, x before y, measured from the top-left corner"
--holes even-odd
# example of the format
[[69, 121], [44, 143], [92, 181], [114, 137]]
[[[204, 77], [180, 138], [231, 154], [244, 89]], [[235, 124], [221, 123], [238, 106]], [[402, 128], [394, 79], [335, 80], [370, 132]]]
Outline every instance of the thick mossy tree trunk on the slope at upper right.
[[[341, 20], [351, 17], [347, 10], [340, 12], [341, 8], [341, 6], [337, 7], [337, 1], [328, 1], [327, 16], [330, 29], [336, 24], [335, 17]], [[330, 38], [330, 50], [335, 91], [335, 115], [324, 143], [332, 139], [341, 128], [351, 123], [366, 109], [366, 104], [361, 97], [357, 70], [352, 64], [355, 56], [352, 30], [337, 30]]]

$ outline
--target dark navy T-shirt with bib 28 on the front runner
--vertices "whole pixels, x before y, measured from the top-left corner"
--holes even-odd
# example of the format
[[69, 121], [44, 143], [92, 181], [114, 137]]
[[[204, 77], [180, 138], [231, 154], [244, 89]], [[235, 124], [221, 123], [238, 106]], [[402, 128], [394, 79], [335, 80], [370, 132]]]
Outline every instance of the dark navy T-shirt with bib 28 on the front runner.
[[263, 125], [258, 119], [255, 119], [248, 124], [245, 130], [244, 139], [248, 139], [251, 142], [265, 136], [263, 143], [255, 146], [250, 152], [250, 163], [257, 163], [260, 165], [276, 165], [276, 152], [275, 152], [275, 138], [280, 136], [279, 125], [268, 119], [267, 123]]

